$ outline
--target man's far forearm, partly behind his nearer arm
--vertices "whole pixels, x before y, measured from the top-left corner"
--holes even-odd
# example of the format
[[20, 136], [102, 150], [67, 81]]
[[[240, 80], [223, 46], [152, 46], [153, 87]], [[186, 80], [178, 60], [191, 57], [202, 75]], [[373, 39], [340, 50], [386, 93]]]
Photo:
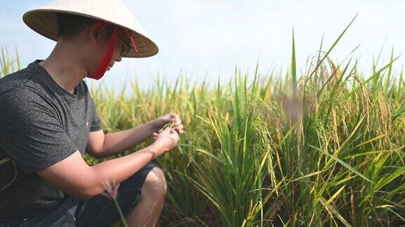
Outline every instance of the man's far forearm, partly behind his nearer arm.
[[86, 152], [95, 158], [105, 158], [140, 144], [155, 132], [152, 122], [136, 128], [104, 134], [103, 130], [89, 132]]

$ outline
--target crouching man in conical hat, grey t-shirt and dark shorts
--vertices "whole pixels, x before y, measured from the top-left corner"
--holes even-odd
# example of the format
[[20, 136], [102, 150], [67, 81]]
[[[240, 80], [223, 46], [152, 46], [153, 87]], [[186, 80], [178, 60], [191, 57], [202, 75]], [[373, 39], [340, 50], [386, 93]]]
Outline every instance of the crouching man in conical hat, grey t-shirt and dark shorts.
[[[59, 0], [23, 15], [57, 41], [45, 60], [0, 80], [0, 226], [155, 226], [166, 181], [151, 160], [184, 133], [177, 114], [104, 135], [85, 77], [99, 79], [122, 57], [149, 57], [158, 47], [122, 0]], [[35, 43], [30, 43], [35, 45]], [[160, 129], [172, 123], [172, 128]], [[150, 146], [98, 165], [82, 155], [111, 156], [153, 137]]]

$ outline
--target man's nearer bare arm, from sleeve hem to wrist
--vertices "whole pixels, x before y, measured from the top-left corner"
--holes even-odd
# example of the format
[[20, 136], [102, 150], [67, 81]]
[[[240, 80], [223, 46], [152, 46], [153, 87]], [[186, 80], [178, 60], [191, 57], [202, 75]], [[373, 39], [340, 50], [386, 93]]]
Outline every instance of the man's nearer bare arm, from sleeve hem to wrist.
[[77, 150], [68, 158], [37, 171], [37, 174], [70, 195], [88, 199], [105, 191], [106, 181], [124, 181], [164, 151], [163, 145], [154, 143], [128, 156], [89, 166]]

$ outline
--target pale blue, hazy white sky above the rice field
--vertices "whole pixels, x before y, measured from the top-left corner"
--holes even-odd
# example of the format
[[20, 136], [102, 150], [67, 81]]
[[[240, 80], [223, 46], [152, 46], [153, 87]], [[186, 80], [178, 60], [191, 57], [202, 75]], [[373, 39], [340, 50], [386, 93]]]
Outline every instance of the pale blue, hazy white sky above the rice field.
[[[50, 1], [0, 0], [0, 46], [13, 52], [18, 47], [22, 67], [36, 59], [45, 59], [56, 42], [33, 32], [23, 14]], [[150, 88], [155, 79], [174, 81], [180, 74], [197, 83], [227, 83], [235, 67], [252, 73], [280, 71], [290, 66], [293, 29], [297, 67], [304, 71], [307, 58], [313, 56], [324, 37], [327, 49], [357, 14], [330, 57], [341, 62], [354, 52], [359, 69], [370, 74], [373, 56], [383, 48], [385, 62], [405, 53], [405, 1], [399, 0], [124, 0], [141, 25], [159, 47], [153, 57], [123, 58], [101, 80], [86, 78], [86, 83], [105, 83], [120, 90], [137, 78], [141, 88]], [[399, 72], [404, 63], [400, 56], [394, 64]]]

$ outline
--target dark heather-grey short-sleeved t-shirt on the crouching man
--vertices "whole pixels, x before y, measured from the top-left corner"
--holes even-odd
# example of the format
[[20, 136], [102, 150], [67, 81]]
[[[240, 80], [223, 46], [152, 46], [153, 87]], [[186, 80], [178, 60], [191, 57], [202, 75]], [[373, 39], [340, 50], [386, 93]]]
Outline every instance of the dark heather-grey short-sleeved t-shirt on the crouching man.
[[[84, 154], [89, 131], [102, 130], [84, 81], [72, 94], [35, 60], [0, 79], [0, 220], [35, 216], [60, 205], [63, 191], [36, 173]], [[72, 170], [72, 174], [75, 170]]]

